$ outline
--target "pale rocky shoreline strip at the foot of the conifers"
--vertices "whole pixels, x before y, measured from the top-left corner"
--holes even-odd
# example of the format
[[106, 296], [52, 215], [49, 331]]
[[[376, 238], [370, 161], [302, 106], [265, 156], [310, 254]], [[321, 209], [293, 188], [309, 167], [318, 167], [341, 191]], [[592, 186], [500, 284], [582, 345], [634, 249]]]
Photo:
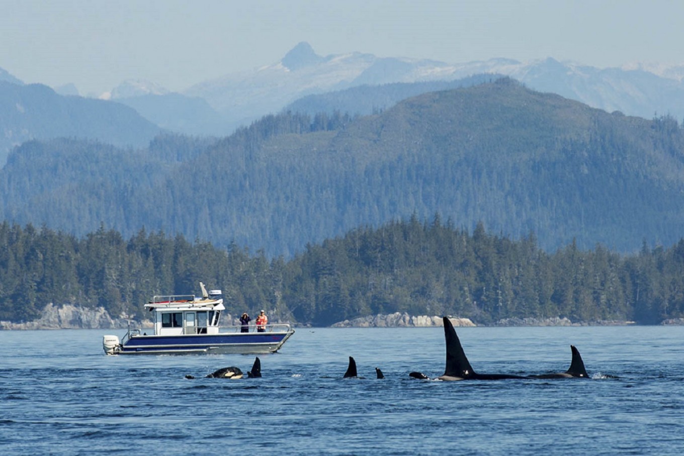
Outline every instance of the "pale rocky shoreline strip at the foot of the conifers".
[[[226, 314], [226, 321], [237, 325], [237, 319]], [[456, 327], [482, 326], [473, 323], [471, 319], [449, 317]], [[85, 308], [66, 304], [45, 306], [40, 319], [23, 323], [0, 321], [0, 330], [105, 330], [126, 329], [129, 321], [124, 318], [113, 318], [102, 307]], [[624, 326], [635, 325], [633, 321], [602, 320], [589, 322], [573, 322], [567, 318], [551, 317], [545, 319], [502, 319], [488, 326]], [[661, 325], [684, 325], [684, 318], [667, 319]], [[369, 315], [334, 323], [332, 327], [432, 327], [442, 326], [442, 317], [428, 315], [409, 315], [404, 312], [393, 314]], [[151, 327], [150, 321], [131, 321], [133, 327]]]

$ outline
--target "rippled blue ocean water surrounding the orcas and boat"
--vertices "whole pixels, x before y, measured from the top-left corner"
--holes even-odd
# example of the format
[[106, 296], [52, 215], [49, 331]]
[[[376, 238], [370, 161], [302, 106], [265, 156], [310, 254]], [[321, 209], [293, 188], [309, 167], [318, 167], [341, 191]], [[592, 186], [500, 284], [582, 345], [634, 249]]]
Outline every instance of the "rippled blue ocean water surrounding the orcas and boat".
[[[240, 380], [202, 377], [254, 356], [105, 356], [103, 334], [124, 331], [5, 331], [0, 453], [684, 453], [684, 327], [456, 331], [479, 373], [565, 371], [573, 344], [592, 378], [410, 379], [444, 372], [440, 327], [301, 328]], [[366, 378], [342, 378], [349, 356]]]

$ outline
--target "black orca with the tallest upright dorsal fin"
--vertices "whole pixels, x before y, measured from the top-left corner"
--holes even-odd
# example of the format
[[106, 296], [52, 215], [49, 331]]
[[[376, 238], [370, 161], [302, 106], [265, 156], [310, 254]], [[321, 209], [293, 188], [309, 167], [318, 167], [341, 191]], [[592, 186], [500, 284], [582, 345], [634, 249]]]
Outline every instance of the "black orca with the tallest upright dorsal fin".
[[[458, 340], [456, 330], [453, 329], [451, 321], [444, 317], [444, 338], [447, 345], [447, 366], [444, 375], [437, 377], [438, 380], [503, 380], [503, 379], [529, 379], [521, 375], [510, 374], [479, 374], [473, 370], [466, 353], [463, 351], [461, 341]], [[427, 375], [420, 372], [412, 372], [410, 377], [419, 379], [430, 379]]]

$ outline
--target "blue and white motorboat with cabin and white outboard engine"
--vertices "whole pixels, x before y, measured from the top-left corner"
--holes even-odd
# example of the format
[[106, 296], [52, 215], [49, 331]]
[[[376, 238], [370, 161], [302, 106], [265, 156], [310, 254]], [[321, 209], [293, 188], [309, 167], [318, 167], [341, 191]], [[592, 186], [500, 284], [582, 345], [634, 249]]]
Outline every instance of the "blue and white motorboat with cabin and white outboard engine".
[[[189, 353], [274, 353], [294, 334], [289, 324], [256, 326], [241, 332], [241, 326], [219, 325], [223, 305], [222, 292], [207, 293], [200, 282], [202, 296], [155, 296], [145, 304], [153, 312], [153, 334], [132, 328], [120, 340], [103, 336], [107, 355], [181, 355]], [[149, 330], [148, 330], [149, 331]]]

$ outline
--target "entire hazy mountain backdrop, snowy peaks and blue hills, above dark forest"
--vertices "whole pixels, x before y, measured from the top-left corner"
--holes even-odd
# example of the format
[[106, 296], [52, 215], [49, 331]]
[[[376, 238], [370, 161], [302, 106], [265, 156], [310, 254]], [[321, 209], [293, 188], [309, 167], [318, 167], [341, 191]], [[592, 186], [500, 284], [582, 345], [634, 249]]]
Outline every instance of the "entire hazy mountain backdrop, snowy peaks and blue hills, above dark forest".
[[0, 219], [79, 235], [145, 226], [291, 256], [438, 213], [533, 231], [550, 250], [575, 239], [631, 252], [681, 236], [683, 75], [321, 56], [300, 43], [181, 94], [127, 81], [96, 100], [0, 69]]

